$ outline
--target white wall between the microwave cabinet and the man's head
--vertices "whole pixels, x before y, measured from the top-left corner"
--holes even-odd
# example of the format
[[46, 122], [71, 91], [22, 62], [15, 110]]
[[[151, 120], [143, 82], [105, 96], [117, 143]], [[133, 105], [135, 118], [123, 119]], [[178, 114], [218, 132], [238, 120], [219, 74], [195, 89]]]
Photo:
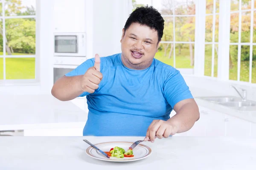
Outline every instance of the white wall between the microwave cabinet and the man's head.
[[129, 0], [93, 0], [93, 57], [121, 52], [122, 28], [129, 17]]

